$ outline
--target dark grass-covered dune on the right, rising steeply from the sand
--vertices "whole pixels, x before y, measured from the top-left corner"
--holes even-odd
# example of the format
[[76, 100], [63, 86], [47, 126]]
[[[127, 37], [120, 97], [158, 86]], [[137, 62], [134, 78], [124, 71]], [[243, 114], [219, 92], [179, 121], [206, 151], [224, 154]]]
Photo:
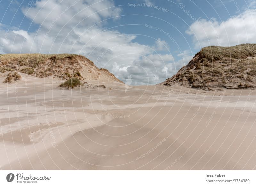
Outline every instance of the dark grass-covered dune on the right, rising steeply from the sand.
[[177, 74], [162, 84], [209, 89], [256, 87], [256, 44], [202, 48]]

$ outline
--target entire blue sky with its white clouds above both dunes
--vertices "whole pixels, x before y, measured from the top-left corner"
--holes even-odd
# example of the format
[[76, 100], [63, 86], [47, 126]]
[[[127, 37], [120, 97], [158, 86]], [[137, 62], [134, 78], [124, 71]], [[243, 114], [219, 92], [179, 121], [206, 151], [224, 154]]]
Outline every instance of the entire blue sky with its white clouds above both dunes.
[[256, 43], [251, 0], [0, 0], [0, 53], [77, 53], [156, 84], [202, 47]]

